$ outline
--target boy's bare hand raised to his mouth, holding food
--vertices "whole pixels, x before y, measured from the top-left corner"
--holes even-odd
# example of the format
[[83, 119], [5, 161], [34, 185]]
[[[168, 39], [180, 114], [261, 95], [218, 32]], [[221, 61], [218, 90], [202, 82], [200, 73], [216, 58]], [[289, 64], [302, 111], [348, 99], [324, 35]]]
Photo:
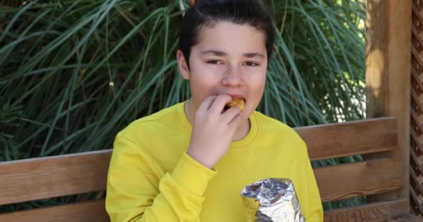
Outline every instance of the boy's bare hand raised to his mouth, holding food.
[[200, 164], [212, 169], [228, 151], [237, 128], [246, 118], [237, 106], [225, 112], [229, 95], [208, 96], [195, 113], [191, 142], [186, 152]]

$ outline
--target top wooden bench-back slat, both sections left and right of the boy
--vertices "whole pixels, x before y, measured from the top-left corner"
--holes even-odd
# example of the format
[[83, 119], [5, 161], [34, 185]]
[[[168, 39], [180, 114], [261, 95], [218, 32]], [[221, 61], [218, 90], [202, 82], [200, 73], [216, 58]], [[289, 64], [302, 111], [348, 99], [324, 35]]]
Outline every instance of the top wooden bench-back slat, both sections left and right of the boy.
[[[390, 117], [296, 128], [312, 160], [396, 148]], [[329, 139], [330, 138], [330, 139]], [[111, 150], [0, 163], [0, 205], [106, 189]]]

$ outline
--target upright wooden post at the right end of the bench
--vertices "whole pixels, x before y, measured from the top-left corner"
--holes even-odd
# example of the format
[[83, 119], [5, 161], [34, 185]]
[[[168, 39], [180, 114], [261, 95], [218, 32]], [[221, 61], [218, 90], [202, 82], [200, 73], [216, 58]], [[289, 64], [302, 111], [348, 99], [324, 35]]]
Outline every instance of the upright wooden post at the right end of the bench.
[[404, 189], [396, 196], [408, 200], [411, 10], [412, 0], [367, 0], [367, 119], [387, 116], [397, 119], [399, 151], [394, 154], [406, 162]]

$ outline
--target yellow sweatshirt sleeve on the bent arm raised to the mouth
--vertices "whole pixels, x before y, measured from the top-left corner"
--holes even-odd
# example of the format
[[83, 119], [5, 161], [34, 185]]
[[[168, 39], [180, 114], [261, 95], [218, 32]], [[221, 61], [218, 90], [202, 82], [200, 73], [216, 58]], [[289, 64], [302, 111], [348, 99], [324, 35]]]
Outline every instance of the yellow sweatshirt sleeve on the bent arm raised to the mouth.
[[173, 172], [163, 172], [143, 147], [118, 135], [107, 175], [106, 212], [111, 222], [198, 221], [215, 174], [186, 153]]

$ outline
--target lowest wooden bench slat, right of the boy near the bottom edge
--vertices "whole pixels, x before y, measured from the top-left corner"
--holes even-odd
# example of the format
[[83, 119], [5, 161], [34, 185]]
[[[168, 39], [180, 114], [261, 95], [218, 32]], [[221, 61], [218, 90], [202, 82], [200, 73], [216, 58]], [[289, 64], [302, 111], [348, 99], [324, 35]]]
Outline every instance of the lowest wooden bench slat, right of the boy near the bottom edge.
[[346, 207], [324, 213], [325, 222], [378, 222], [388, 221], [391, 214], [397, 215], [407, 211], [408, 200], [394, 200], [371, 203], [358, 207]]

